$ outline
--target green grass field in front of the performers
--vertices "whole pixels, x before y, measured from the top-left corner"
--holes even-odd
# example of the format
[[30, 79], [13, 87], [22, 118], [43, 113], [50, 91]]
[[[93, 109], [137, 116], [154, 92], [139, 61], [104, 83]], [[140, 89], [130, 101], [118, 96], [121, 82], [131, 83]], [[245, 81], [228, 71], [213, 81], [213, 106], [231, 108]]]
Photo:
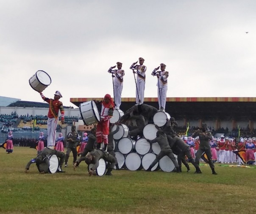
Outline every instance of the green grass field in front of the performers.
[[[162, 171], [113, 171], [88, 176], [85, 163], [66, 173], [39, 174], [36, 150], [0, 149], [0, 213], [256, 213], [256, 168], [220, 167], [212, 175]], [[72, 162], [72, 157], [70, 157]]]

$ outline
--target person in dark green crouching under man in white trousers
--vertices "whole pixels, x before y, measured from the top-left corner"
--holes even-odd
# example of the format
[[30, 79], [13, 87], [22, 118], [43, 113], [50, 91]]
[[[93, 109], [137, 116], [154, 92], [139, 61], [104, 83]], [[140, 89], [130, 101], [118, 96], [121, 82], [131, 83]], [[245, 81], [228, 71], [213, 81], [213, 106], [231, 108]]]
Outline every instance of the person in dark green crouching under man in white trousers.
[[61, 169], [64, 159], [65, 159], [65, 154], [64, 152], [60, 152], [54, 149], [50, 149], [45, 147], [42, 151], [40, 151], [37, 156], [33, 159], [31, 159], [28, 164], [25, 167], [25, 173], [28, 173], [29, 167], [32, 163], [36, 163], [36, 166], [38, 168], [39, 173], [49, 173], [49, 167], [50, 167], [50, 161], [49, 158], [51, 155], [55, 154], [60, 160], [58, 163], [58, 170], [57, 172], [65, 172]]

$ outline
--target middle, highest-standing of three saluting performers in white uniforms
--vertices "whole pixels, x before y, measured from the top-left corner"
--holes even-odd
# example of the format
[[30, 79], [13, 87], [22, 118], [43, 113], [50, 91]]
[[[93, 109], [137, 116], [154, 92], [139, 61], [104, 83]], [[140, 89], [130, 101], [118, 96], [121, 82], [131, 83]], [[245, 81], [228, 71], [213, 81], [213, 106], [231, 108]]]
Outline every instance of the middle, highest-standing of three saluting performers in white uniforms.
[[[144, 102], [144, 91], [145, 91], [145, 72], [147, 67], [143, 65], [144, 59], [139, 57], [139, 65], [136, 65], [138, 62], [134, 62], [130, 69], [133, 70], [133, 73], [137, 73], [137, 81], [136, 81], [136, 104], [142, 104]], [[136, 70], [136, 71], [134, 71]]]

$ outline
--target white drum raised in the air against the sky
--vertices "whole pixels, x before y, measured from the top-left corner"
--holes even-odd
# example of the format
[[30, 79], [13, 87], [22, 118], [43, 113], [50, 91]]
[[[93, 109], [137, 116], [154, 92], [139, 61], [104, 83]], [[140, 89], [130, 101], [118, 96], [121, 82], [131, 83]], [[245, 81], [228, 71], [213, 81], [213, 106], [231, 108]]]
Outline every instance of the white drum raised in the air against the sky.
[[28, 80], [30, 86], [37, 92], [45, 90], [52, 82], [50, 76], [43, 70], [38, 70]]

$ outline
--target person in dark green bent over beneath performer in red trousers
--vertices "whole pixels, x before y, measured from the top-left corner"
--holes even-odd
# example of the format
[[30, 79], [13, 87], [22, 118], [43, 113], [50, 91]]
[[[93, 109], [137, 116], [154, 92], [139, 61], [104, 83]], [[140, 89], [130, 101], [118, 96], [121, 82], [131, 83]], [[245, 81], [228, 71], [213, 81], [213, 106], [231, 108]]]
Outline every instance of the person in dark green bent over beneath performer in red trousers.
[[99, 166], [99, 160], [100, 158], [103, 158], [106, 162], [108, 162], [107, 168], [108, 171], [106, 172], [106, 175], [112, 175], [111, 171], [114, 169], [116, 159], [113, 155], [108, 154], [106, 152], [102, 152], [101, 150], [95, 150], [90, 152], [86, 157], [85, 157], [85, 163], [87, 165], [93, 164], [92, 168], [89, 170], [89, 176], [92, 175], [93, 171], [97, 169]]

